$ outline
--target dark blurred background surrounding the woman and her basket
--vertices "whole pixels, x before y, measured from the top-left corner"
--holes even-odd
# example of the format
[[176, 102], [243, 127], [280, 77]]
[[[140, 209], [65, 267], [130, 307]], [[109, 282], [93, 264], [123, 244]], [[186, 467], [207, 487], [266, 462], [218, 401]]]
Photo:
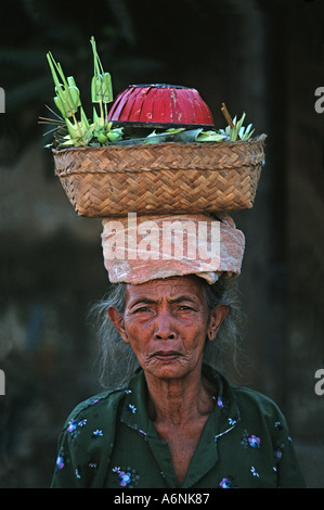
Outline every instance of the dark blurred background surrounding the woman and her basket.
[[268, 133], [255, 205], [233, 214], [246, 234], [247, 316], [235, 382], [277, 401], [308, 485], [324, 487], [323, 12], [322, 0], [1, 3], [0, 487], [48, 487], [65, 418], [101, 390], [88, 319], [107, 289], [101, 221], [74, 212], [38, 125], [53, 107], [49, 50], [87, 111], [92, 35], [115, 95], [129, 84], [191, 86], [218, 127], [225, 102]]

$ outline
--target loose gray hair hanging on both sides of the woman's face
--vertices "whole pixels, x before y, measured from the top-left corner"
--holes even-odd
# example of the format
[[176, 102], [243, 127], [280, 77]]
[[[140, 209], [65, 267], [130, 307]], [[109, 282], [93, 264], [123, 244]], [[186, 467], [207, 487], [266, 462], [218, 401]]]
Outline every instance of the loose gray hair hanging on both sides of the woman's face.
[[[232, 355], [231, 359], [236, 367], [236, 355], [239, 350], [242, 315], [236, 281], [233, 278], [221, 277], [210, 285], [203, 278], [198, 279], [210, 311], [218, 304], [229, 306], [229, 313], [218, 331], [217, 340], [206, 342], [203, 358], [204, 364], [223, 373], [229, 362], [229, 354]], [[126, 283], [111, 284], [107, 296], [91, 309], [91, 317], [95, 318], [98, 324], [96, 335], [100, 342], [100, 382], [106, 390], [127, 385], [140, 367], [131, 345], [122, 341], [107, 314], [111, 306], [119, 314], [124, 314], [126, 286]]]

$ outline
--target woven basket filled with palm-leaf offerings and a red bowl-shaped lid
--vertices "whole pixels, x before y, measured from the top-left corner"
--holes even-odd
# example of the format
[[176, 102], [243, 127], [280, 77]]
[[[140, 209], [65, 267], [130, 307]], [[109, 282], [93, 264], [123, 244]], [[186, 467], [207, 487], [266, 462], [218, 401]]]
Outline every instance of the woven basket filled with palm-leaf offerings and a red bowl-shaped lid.
[[[113, 102], [92, 38], [94, 103], [90, 122], [73, 77], [49, 53], [54, 102], [63, 119], [52, 144], [55, 174], [81, 216], [213, 214], [249, 208], [264, 164], [265, 135], [251, 138], [245, 114], [216, 129], [197, 90], [130, 86]], [[109, 103], [113, 103], [112, 105]], [[109, 106], [108, 106], [109, 105]], [[153, 130], [152, 130], [153, 129]]]

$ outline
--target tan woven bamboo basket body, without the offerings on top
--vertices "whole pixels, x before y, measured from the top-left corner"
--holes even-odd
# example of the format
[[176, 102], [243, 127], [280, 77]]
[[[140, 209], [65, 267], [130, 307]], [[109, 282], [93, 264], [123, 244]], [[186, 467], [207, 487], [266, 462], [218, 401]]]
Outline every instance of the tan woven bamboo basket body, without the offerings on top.
[[55, 174], [80, 216], [237, 211], [254, 204], [264, 140], [53, 150]]

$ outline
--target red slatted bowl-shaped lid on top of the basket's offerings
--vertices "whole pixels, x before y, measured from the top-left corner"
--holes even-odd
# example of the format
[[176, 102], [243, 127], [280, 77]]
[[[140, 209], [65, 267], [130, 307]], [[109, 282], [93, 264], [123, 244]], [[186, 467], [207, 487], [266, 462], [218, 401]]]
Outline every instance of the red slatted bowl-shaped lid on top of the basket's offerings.
[[108, 122], [143, 127], [212, 127], [196, 89], [173, 85], [131, 85], [114, 101]]

